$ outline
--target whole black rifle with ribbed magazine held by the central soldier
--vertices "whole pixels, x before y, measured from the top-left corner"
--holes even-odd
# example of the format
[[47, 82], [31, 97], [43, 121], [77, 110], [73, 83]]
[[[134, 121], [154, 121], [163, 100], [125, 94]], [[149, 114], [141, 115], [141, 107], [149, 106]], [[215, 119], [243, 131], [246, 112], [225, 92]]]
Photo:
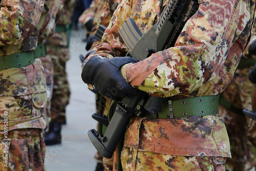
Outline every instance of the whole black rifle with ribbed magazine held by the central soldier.
[[[144, 36], [134, 20], [128, 18], [119, 29], [120, 35], [131, 51], [127, 55], [143, 60], [152, 53], [173, 47], [185, 23], [196, 13], [198, 7], [198, 3], [194, 0], [169, 0], [157, 24]], [[88, 131], [89, 138], [97, 151], [103, 157], [111, 158], [131, 117], [134, 114], [140, 116], [143, 106], [148, 107], [147, 111], [157, 114], [163, 100], [164, 98], [161, 97], [148, 98], [148, 95], [142, 91], [135, 97], [124, 97], [117, 103], [104, 135], [98, 134], [94, 129]]]

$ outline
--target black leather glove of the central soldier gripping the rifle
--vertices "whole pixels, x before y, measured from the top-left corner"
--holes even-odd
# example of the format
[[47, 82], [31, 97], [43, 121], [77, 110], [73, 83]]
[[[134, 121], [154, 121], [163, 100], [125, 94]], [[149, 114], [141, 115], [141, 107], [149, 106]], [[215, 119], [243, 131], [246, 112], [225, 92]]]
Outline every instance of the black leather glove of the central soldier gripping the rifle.
[[95, 55], [84, 65], [81, 77], [83, 82], [93, 84], [103, 96], [120, 101], [126, 95], [139, 93], [121, 74], [121, 67], [131, 62], [138, 60], [127, 56], [109, 59]]

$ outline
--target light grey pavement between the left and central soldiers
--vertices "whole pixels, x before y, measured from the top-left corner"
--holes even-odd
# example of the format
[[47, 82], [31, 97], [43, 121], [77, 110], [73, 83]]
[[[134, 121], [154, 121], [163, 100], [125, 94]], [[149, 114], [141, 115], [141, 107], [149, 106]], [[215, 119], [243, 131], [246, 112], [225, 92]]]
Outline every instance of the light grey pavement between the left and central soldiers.
[[81, 80], [79, 54], [86, 54], [86, 43], [82, 42], [86, 31], [72, 31], [70, 40], [71, 58], [66, 71], [71, 89], [70, 103], [66, 108], [67, 124], [62, 126], [62, 143], [46, 146], [45, 165], [48, 171], [94, 171], [96, 149], [87, 132], [95, 129], [97, 122], [91, 117], [95, 113], [95, 94]]

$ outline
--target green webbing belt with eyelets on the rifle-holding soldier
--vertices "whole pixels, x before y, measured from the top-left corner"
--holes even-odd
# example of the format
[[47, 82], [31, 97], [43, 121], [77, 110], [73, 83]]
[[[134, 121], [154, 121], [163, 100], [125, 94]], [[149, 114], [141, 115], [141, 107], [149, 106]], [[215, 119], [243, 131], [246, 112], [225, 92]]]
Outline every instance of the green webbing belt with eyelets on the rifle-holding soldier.
[[162, 104], [159, 119], [218, 114], [219, 96], [190, 97]]

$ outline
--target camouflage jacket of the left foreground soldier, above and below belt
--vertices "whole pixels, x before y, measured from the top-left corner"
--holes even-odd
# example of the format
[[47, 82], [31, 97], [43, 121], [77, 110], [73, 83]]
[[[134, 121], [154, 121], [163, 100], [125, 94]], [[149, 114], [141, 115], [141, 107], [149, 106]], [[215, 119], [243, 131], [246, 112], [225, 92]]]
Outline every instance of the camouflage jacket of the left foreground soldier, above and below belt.
[[[34, 50], [40, 32], [45, 29], [51, 18], [48, 12], [53, 4], [54, 0], [2, 0], [0, 4], [1, 56]], [[0, 71], [0, 97], [3, 97], [2, 103], [6, 104], [6, 108], [0, 110], [9, 111], [9, 131], [27, 127], [44, 129], [44, 113], [38, 113], [32, 108], [36, 106], [42, 111], [47, 100], [46, 80], [41, 61], [36, 59], [26, 67]], [[19, 103], [19, 108], [11, 105], [15, 101], [12, 97], [15, 97], [16, 103]], [[31, 97], [32, 100], [27, 99]], [[27, 116], [27, 113], [32, 115]], [[3, 122], [2, 114], [3, 112], [0, 117], [1, 122]], [[3, 130], [2, 126], [1, 123], [0, 131]]]

